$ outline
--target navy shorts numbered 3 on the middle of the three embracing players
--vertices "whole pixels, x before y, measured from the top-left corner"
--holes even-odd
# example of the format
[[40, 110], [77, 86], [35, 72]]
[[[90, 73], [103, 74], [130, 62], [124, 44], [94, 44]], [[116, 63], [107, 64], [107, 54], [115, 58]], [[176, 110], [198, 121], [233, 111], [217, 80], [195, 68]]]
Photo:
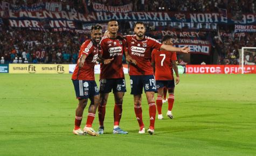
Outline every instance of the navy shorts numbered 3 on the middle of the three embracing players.
[[113, 93], [126, 92], [126, 81], [124, 78], [100, 80], [100, 93], [110, 93], [112, 89]]

